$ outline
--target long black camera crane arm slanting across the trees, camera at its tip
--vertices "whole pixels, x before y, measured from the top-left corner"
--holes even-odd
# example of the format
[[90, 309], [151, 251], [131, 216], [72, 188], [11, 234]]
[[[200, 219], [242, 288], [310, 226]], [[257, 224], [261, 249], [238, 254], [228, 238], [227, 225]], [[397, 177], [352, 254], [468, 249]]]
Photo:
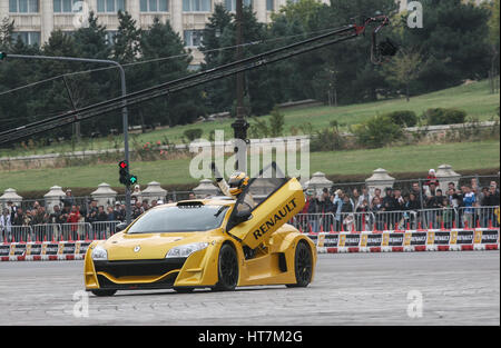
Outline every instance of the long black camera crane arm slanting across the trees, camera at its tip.
[[[154, 86], [137, 92], [128, 93], [124, 97], [117, 97], [102, 102], [98, 102], [81, 109], [68, 111], [55, 117], [50, 117], [40, 121], [36, 121], [26, 126], [13, 128], [3, 132], [0, 132], [0, 143], [8, 143], [21, 138], [41, 133], [48, 130], [52, 130], [59, 127], [68, 126], [75, 122], [88, 120], [104, 113], [120, 110], [124, 108], [124, 101], [127, 106], [138, 105], [155, 98], [168, 96], [170, 93], [189, 89], [203, 83], [217, 81], [223, 78], [227, 78], [239, 72], [253, 70], [273, 62], [282, 61], [293, 58], [306, 52], [311, 52], [321, 48], [325, 48], [332, 44], [336, 44], [343, 41], [347, 41], [360, 36], [363, 36], [371, 24], [377, 24], [373, 31], [373, 48], [371, 57], [373, 62], [376, 59], [381, 59], [379, 56], [393, 56], [394, 52], [387, 49], [382, 49], [375, 41], [377, 32], [390, 23], [386, 16], [377, 16], [367, 18], [363, 24], [348, 24], [331, 32], [316, 36], [289, 46], [273, 49], [246, 59], [234, 61], [214, 69], [205, 70], [198, 73], [193, 73], [187, 77], [168, 81], [158, 86]], [[396, 51], [396, 49], [395, 49]], [[375, 59], [376, 58], [376, 59]]]

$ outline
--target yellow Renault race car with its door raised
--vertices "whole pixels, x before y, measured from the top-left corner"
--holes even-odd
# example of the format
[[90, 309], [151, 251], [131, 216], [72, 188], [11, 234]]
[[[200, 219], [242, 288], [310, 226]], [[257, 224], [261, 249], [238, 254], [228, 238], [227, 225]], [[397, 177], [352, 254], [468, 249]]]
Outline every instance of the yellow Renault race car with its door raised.
[[281, 179], [261, 203], [238, 207], [253, 185], [234, 199], [186, 200], [149, 209], [124, 231], [92, 242], [85, 258], [86, 290], [235, 287], [313, 281], [316, 248], [286, 223], [305, 203], [297, 179]]

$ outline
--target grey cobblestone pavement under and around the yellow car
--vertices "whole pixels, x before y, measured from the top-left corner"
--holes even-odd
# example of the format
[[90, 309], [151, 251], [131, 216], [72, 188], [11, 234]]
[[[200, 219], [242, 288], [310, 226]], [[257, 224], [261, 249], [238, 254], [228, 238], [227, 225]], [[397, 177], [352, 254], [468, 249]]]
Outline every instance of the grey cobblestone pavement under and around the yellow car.
[[[305, 289], [90, 295], [88, 317], [76, 317], [82, 268], [1, 262], [0, 325], [500, 325], [499, 251], [321, 255]], [[407, 315], [411, 290], [422, 317]]]

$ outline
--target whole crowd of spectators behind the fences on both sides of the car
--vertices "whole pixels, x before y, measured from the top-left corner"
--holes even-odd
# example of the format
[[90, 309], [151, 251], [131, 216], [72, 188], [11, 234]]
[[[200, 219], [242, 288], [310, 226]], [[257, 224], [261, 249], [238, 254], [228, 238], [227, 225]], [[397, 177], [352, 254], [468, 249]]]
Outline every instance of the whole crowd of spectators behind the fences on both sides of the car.
[[[443, 187], [443, 186], [442, 186]], [[195, 199], [193, 192], [188, 199]], [[169, 199], [167, 202], [173, 202]], [[139, 187], [135, 187], [131, 200], [131, 218], [136, 219], [148, 209], [163, 205], [163, 200], [141, 199]], [[387, 187], [384, 190], [375, 189], [370, 192], [367, 187], [360, 190], [345, 191], [342, 189], [324, 189], [316, 195], [313, 189], [306, 190], [306, 203], [298, 216], [299, 227], [306, 230], [382, 230], [399, 227], [416, 227], [418, 222], [428, 227], [429, 222], [434, 226], [440, 223], [451, 228], [454, 225], [475, 226], [479, 220], [483, 225], [492, 223], [499, 226], [500, 191], [497, 181], [491, 181], [487, 187], [480, 187], [478, 179], [473, 178], [469, 185], [456, 187], [449, 182], [443, 191], [439, 186], [433, 169], [423, 185], [412, 182], [411, 188], [402, 190], [397, 187]], [[98, 205], [97, 200], [78, 203], [71, 193], [66, 196], [59, 205], [52, 207], [48, 212], [46, 208], [33, 201], [26, 206], [26, 210], [13, 205], [11, 201], [0, 215], [0, 232], [10, 230], [12, 226], [38, 226], [38, 225], [65, 225], [76, 222], [111, 222], [126, 220], [125, 202], [116, 201], [114, 206]], [[489, 209], [489, 215], [479, 215], [478, 209]], [[459, 213], [458, 213], [459, 212]], [[495, 215], [495, 216], [494, 216]], [[324, 218], [322, 218], [324, 217]], [[327, 217], [327, 218], [325, 218]]]

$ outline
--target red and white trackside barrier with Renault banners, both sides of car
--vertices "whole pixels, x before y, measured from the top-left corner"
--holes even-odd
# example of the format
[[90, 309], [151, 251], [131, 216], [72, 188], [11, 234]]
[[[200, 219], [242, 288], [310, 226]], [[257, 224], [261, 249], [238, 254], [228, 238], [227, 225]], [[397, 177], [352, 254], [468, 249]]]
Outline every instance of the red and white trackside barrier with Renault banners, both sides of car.
[[[318, 253], [499, 250], [499, 228], [307, 233]], [[0, 261], [82, 260], [91, 241], [0, 243]]]

